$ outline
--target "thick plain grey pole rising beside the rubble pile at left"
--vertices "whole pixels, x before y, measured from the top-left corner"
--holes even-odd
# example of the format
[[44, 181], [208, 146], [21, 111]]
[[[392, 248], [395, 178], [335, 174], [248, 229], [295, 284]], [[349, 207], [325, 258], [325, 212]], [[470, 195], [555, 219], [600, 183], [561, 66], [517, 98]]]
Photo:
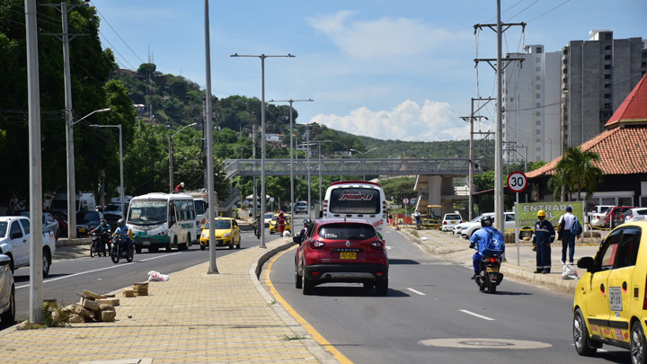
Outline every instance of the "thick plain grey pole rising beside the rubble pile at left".
[[[42, 175], [40, 151], [40, 84], [36, 0], [25, 0], [30, 157], [30, 321], [43, 322]], [[7, 228], [7, 230], [9, 230]], [[15, 305], [15, 301], [10, 303]], [[13, 309], [14, 307], [11, 307]]]

